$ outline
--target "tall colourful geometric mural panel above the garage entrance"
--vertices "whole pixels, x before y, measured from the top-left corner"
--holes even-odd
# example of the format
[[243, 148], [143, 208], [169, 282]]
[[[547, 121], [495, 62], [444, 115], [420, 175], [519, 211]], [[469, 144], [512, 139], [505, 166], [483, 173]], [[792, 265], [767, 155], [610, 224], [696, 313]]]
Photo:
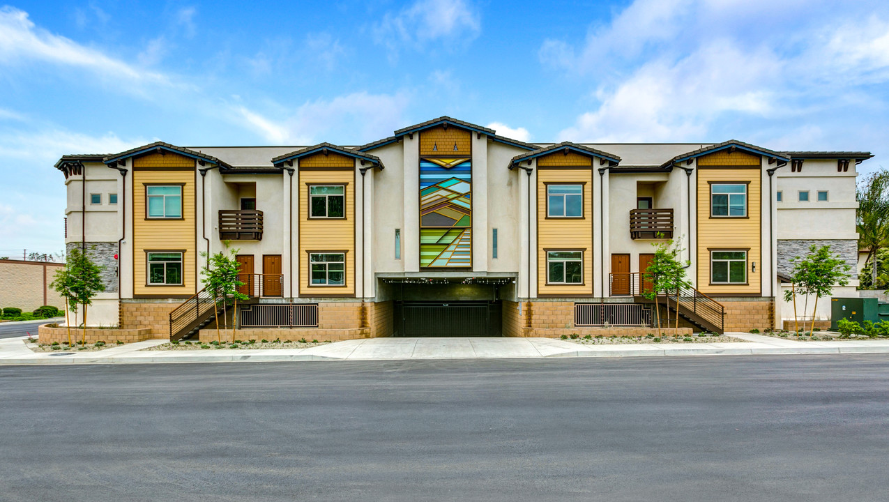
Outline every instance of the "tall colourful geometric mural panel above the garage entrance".
[[471, 267], [472, 163], [420, 159], [420, 267]]

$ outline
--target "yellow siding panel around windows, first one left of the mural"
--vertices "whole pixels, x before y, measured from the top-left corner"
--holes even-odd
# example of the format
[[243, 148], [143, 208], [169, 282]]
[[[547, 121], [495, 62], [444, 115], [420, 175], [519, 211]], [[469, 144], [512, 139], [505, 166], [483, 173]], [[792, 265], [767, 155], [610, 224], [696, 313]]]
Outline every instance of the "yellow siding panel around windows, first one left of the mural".
[[[347, 157], [348, 158], [348, 157]], [[349, 159], [351, 160], [351, 159]], [[302, 160], [300, 159], [300, 167]], [[346, 219], [308, 219], [308, 185], [348, 183]], [[300, 171], [300, 296], [355, 294], [355, 171]], [[307, 251], [347, 251], [346, 286], [309, 286]]]

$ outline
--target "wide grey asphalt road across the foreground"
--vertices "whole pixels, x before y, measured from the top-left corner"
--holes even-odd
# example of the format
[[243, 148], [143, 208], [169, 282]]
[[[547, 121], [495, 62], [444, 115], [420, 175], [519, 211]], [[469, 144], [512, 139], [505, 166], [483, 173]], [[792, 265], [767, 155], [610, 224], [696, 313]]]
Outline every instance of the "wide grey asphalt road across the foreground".
[[885, 355], [0, 367], [3, 500], [885, 500]]

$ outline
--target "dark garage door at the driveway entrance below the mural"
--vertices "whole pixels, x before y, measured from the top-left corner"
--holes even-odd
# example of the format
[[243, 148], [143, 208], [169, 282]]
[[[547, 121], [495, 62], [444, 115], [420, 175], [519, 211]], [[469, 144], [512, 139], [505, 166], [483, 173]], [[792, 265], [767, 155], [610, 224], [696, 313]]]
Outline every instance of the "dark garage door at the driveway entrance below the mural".
[[403, 301], [396, 306], [400, 337], [499, 337], [499, 301]]

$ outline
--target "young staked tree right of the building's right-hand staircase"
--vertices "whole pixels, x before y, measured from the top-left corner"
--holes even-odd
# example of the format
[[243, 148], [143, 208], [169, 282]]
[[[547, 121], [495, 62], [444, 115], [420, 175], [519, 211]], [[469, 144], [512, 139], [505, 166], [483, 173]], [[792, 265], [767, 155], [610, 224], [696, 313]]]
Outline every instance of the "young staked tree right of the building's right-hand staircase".
[[[815, 325], [815, 313], [818, 312], [818, 299], [830, 296], [830, 291], [834, 286], [845, 286], [849, 283], [849, 271], [852, 267], [839, 255], [830, 251], [830, 246], [818, 247], [815, 244], [809, 246], [809, 252], [805, 257], [796, 257], [790, 259], [793, 263], [793, 273], [791, 274], [794, 288], [791, 291], [784, 291], [784, 300], [790, 301], [794, 298], [796, 291], [804, 295], [815, 295], [815, 307], [812, 312], [812, 323], [809, 326], [809, 336]], [[803, 309], [805, 313], [805, 307]], [[805, 331], [805, 321], [803, 321], [803, 331]]]

